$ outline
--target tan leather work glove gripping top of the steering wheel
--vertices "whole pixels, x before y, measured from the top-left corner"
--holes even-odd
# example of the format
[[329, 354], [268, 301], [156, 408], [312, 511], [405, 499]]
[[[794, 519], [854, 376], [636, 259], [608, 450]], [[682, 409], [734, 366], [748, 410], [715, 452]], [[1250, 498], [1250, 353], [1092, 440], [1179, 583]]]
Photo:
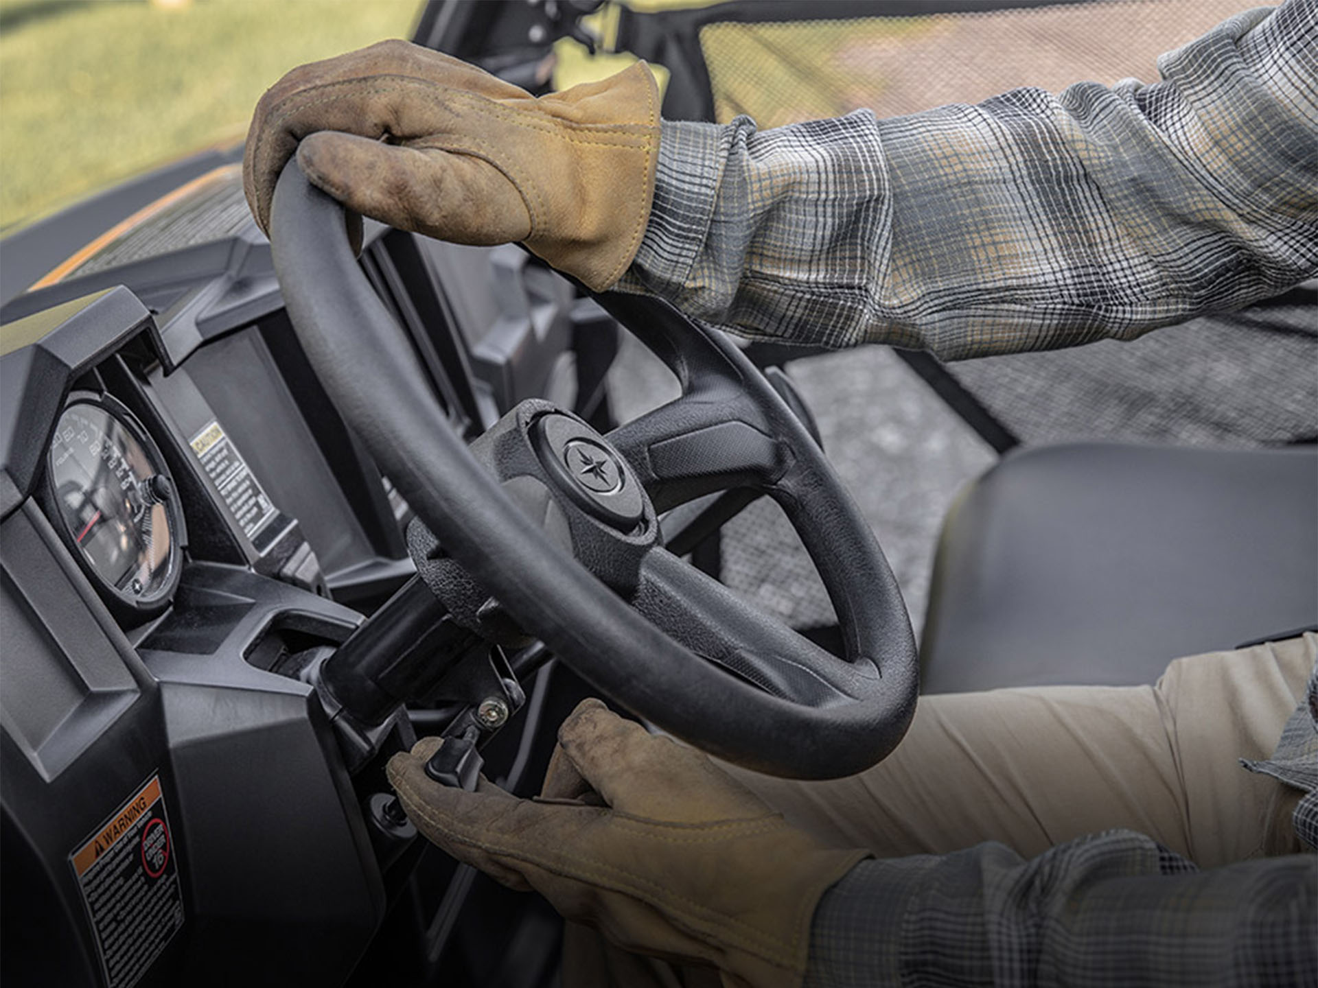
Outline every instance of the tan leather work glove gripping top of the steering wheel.
[[637, 63], [536, 99], [456, 58], [382, 41], [294, 69], [261, 97], [243, 187], [266, 233], [294, 153], [349, 209], [459, 244], [522, 241], [598, 291], [631, 263], [650, 217], [659, 91]]

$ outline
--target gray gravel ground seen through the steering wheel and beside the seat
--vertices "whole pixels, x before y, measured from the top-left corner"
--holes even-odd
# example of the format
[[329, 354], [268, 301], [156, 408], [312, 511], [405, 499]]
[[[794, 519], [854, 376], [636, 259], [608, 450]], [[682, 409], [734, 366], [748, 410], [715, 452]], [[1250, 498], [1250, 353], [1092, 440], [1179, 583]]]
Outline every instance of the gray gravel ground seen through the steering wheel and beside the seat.
[[[788, 374], [878, 535], [919, 631], [942, 516], [962, 485], [994, 462], [994, 452], [886, 348], [793, 361]], [[663, 364], [630, 336], [623, 337], [609, 389], [622, 420], [677, 394]], [[724, 578], [792, 626], [834, 619], [800, 540], [767, 499], [726, 526]]]

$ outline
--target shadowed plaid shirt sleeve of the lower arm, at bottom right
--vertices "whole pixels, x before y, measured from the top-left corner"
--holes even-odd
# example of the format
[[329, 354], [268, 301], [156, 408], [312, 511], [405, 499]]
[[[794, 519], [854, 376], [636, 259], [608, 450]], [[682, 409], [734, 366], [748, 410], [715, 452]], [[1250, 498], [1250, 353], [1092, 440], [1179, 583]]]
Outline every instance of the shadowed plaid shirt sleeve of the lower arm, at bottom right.
[[807, 988], [1318, 983], [1318, 860], [1211, 871], [1128, 830], [862, 862], [820, 902]]

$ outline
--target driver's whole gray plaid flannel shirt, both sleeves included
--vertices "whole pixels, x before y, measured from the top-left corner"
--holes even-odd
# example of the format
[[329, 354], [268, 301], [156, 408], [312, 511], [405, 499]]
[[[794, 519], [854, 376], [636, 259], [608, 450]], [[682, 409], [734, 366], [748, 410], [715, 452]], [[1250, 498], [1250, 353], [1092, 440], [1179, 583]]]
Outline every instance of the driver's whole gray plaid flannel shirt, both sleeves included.
[[[954, 360], [1133, 339], [1311, 277], [1318, 0], [1159, 70], [892, 120], [664, 123], [619, 287], [755, 336]], [[1294, 823], [1318, 846], [1318, 678], [1309, 707], [1248, 767], [1307, 792]], [[866, 862], [820, 904], [807, 984], [1318, 985], [1318, 860], [1199, 872], [1108, 831], [1028, 862]]]

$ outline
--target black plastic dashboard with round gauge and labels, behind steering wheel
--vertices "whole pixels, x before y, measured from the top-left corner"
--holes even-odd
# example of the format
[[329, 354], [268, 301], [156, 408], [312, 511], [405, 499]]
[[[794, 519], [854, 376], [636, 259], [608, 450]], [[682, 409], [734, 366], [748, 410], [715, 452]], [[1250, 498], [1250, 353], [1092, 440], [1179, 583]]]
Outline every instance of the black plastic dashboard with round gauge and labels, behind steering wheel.
[[[407, 593], [411, 510], [302, 353], [237, 169], [165, 199], [3, 312], [0, 977], [372, 983], [420, 848], [303, 673]], [[608, 425], [617, 327], [522, 252], [373, 227], [361, 265], [461, 435], [529, 397]], [[434, 970], [471, 876], [430, 867]]]

